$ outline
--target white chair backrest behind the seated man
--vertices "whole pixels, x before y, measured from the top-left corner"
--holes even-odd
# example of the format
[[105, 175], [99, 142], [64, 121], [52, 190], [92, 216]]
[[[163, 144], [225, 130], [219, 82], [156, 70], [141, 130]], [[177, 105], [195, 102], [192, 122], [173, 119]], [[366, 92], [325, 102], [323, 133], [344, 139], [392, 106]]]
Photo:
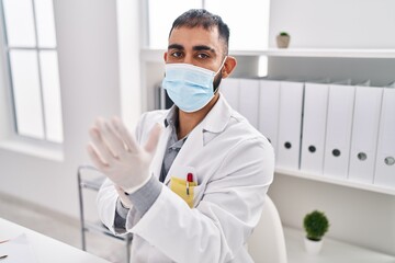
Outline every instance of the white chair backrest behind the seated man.
[[248, 240], [248, 252], [256, 263], [286, 263], [285, 239], [280, 215], [268, 195], [262, 216]]

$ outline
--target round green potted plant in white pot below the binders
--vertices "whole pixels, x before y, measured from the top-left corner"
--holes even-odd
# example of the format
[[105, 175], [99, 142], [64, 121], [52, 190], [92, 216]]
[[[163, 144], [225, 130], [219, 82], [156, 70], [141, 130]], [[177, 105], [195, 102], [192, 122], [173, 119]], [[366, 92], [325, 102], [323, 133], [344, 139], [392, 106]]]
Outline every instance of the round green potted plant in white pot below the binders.
[[304, 217], [303, 227], [306, 231], [306, 251], [318, 254], [323, 247], [323, 237], [329, 229], [328, 218], [323, 211], [314, 210]]

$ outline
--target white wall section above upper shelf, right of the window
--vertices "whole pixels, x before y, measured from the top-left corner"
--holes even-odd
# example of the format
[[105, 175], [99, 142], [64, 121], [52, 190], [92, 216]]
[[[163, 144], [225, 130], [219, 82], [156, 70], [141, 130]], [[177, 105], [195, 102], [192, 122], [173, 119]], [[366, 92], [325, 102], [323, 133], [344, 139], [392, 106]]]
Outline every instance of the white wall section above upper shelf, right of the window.
[[291, 34], [297, 48], [394, 48], [393, 0], [272, 0], [269, 46]]

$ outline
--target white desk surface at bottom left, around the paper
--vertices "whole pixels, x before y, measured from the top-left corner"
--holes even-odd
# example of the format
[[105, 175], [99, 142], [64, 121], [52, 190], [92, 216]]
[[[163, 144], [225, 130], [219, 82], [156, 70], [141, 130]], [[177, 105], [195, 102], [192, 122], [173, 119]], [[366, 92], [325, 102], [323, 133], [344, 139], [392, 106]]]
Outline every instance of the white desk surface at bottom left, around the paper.
[[[110, 263], [99, 256], [0, 218], [0, 241], [14, 239], [25, 233], [32, 251], [40, 263]], [[1, 243], [0, 243], [1, 245]], [[1, 263], [12, 262], [11, 255]]]

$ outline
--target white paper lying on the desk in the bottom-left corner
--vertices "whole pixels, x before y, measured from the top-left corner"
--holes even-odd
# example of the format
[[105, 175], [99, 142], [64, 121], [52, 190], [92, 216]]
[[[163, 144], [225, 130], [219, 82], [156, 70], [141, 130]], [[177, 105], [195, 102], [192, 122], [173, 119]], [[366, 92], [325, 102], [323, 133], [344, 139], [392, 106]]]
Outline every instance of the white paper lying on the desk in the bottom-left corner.
[[0, 255], [5, 254], [1, 263], [38, 263], [25, 233], [0, 243]]

